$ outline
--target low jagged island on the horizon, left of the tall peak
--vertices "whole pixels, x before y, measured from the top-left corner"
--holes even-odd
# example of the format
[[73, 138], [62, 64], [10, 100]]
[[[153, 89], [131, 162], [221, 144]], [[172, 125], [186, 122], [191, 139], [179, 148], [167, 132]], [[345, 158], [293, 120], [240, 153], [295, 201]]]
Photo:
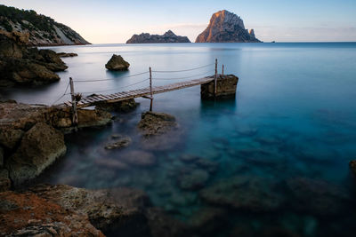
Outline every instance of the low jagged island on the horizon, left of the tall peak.
[[163, 36], [142, 33], [134, 35], [126, 43], [190, 43], [187, 36], [176, 36], [172, 30], [168, 30]]

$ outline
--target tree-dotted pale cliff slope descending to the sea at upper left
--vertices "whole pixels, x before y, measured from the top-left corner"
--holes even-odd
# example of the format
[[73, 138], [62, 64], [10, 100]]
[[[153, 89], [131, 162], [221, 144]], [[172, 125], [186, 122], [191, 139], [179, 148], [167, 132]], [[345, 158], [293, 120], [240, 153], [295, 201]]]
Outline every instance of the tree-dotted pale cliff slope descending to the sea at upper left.
[[28, 35], [28, 44], [36, 46], [89, 44], [73, 29], [50, 17], [0, 5], [0, 34], [17, 31]]

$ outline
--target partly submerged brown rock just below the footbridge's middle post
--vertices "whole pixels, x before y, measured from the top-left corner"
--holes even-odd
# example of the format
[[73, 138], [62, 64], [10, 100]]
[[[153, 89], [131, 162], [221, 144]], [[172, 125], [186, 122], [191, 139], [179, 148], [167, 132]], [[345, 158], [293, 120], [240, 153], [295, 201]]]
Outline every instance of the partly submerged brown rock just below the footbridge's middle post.
[[172, 115], [158, 112], [145, 112], [141, 115], [138, 128], [143, 136], [149, 137], [165, 134], [167, 131], [177, 128], [177, 123]]

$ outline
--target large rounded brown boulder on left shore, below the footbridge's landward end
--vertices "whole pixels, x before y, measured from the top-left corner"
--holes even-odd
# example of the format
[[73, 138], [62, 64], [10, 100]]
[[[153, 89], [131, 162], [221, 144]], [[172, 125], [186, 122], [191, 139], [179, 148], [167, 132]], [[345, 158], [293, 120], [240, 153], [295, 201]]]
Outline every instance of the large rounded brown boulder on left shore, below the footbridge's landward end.
[[57, 158], [66, 153], [64, 136], [59, 130], [38, 122], [23, 136], [19, 148], [6, 161], [5, 167], [10, 178], [18, 186], [36, 178]]

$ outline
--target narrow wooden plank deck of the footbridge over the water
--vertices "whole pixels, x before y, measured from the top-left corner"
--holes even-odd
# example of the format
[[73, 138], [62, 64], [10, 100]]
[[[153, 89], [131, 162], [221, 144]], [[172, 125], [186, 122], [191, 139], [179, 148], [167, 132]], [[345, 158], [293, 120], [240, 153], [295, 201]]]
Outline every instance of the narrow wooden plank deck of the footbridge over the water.
[[[187, 87], [196, 86], [199, 84], [210, 83], [214, 80], [214, 76], [204, 77], [200, 79], [195, 79], [191, 81], [185, 81], [181, 83], [172, 83], [163, 86], [152, 87], [152, 93], [164, 93], [168, 91], [176, 91]], [[126, 99], [135, 99], [140, 97], [149, 97], [150, 98], [150, 87], [137, 89], [134, 91], [121, 91], [114, 94], [102, 95], [102, 94], [93, 94], [87, 97], [82, 98], [77, 102], [77, 107], [93, 107], [99, 103], [114, 103]], [[64, 102], [65, 106], [71, 107], [71, 101]]]

